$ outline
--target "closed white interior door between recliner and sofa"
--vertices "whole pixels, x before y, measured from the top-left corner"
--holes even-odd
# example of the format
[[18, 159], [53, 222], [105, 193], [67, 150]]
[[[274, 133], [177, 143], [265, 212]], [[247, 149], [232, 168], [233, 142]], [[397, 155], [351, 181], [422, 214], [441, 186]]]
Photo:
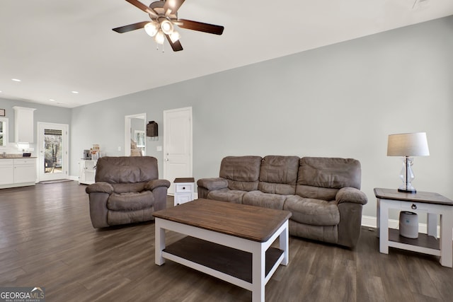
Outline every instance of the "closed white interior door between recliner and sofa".
[[175, 178], [192, 175], [192, 108], [164, 111], [164, 179], [171, 182], [168, 194], [174, 194]]

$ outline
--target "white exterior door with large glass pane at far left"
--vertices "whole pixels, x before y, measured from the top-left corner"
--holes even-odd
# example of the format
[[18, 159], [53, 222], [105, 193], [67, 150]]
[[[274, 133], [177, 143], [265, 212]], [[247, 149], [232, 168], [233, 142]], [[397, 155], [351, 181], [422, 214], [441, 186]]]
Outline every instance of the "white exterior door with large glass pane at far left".
[[38, 122], [38, 178], [39, 181], [68, 178], [67, 124]]

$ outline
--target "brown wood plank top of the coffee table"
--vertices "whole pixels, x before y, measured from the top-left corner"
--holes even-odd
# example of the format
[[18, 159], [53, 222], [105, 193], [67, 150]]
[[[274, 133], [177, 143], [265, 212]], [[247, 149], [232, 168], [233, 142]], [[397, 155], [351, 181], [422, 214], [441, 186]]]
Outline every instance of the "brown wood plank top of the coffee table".
[[290, 211], [196, 199], [154, 212], [153, 216], [197, 228], [265, 242], [291, 216]]

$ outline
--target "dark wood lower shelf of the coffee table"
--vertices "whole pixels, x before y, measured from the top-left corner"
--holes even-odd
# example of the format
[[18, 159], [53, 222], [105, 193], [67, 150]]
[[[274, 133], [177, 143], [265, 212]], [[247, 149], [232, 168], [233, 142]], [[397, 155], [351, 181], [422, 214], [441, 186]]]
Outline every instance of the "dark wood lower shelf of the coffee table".
[[[268, 248], [265, 255], [265, 276], [267, 277], [271, 269], [281, 262], [283, 251], [278, 248]], [[252, 282], [252, 254], [250, 252], [187, 236], [168, 245], [162, 250], [162, 256], [182, 265], [190, 262], [191, 265], [187, 266], [193, 267], [196, 264], [207, 270], [212, 269], [217, 274], [221, 272], [248, 283]], [[214, 274], [211, 275], [216, 277]]]

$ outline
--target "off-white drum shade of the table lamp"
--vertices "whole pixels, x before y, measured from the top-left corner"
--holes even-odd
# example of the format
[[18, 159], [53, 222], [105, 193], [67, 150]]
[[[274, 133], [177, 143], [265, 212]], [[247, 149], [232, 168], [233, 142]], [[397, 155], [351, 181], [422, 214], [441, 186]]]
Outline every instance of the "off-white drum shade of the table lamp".
[[428, 156], [426, 132], [390, 134], [387, 156]]

